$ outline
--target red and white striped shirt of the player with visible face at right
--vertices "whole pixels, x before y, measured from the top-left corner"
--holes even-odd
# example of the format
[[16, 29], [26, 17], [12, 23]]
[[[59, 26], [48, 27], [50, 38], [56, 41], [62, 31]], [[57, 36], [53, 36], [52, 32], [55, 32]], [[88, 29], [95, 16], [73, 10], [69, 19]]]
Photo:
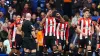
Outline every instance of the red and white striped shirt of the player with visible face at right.
[[[78, 25], [80, 26], [81, 31], [87, 35], [85, 38], [88, 38], [88, 36], [91, 35], [92, 20], [90, 18], [80, 18], [78, 20]], [[80, 39], [82, 39], [82, 37], [82, 34], [80, 34]]]

